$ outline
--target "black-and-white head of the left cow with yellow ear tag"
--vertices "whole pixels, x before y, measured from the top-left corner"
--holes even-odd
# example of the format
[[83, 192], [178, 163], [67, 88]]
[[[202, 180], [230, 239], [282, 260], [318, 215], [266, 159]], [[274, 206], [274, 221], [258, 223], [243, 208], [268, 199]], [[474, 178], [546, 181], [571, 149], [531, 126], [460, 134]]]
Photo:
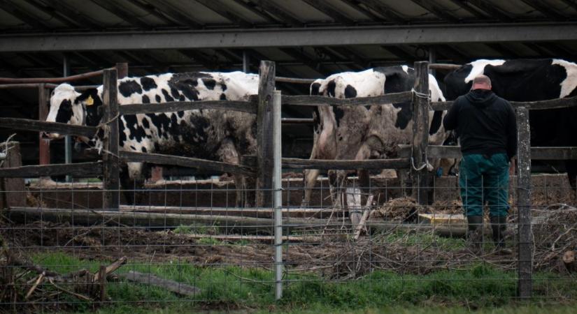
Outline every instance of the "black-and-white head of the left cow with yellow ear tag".
[[[77, 126], [97, 126], [102, 117], [102, 100], [97, 89], [87, 89], [82, 94], [70, 84], [60, 84], [50, 96], [50, 112], [46, 121], [73, 124]], [[51, 140], [62, 138], [58, 133], [48, 133]], [[84, 142], [88, 139], [82, 138]]]

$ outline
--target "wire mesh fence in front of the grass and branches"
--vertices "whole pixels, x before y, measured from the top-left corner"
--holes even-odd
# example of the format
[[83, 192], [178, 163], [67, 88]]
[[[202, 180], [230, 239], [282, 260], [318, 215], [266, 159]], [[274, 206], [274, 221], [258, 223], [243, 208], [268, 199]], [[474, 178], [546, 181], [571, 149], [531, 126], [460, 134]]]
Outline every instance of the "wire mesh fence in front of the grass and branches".
[[[284, 177], [285, 302], [517, 298], [515, 180], [506, 223], [512, 253], [503, 255], [487, 209], [481, 249], [471, 250], [455, 177], [435, 178], [431, 204], [420, 205], [397, 177], [371, 177], [366, 187], [349, 177], [339, 195], [321, 176], [307, 207], [300, 174]], [[534, 175], [531, 188], [533, 297], [574, 298], [576, 193], [564, 174]], [[235, 207], [227, 177], [130, 192], [135, 204], [120, 211], [102, 207], [99, 182], [43, 179], [2, 192], [19, 193], [26, 206], [2, 214], [1, 308], [274, 304], [273, 209]]]

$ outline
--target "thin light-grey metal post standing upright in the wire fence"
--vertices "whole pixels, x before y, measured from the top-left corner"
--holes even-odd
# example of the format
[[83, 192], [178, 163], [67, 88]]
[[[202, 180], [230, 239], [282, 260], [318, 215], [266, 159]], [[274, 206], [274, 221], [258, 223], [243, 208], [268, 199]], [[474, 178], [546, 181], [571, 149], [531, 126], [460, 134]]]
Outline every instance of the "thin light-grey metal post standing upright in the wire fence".
[[283, 297], [283, 192], [282, 137], [280, 136], [280, 91], [273, 94], [273, 206], [274, 206], [274, 280], [275, 299]]

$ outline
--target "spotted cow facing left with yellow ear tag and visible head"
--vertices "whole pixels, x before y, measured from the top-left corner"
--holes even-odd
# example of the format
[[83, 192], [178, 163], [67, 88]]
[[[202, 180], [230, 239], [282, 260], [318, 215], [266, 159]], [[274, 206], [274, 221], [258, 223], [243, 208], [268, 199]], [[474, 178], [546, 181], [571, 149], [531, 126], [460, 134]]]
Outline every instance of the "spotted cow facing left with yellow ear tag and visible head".
[[[118, 103], [166, 103], [197, 100], [248, 100], [258, 94], [258, 75], [231, 73], [165, 73], [143, 77], [126, 77], [117, 82]], [[46, 121], [64, 124], [99, 126], [102, 121], [103, 87], [75, 91], [69, 84], [60, 84], [50, 97]], [[222, 110], [187, 110], [157, 114], [123, 115], [118, 119], [119, 149], [142, 153], [174, 154], [194, 158], [239, 163], [243, 154], [256, 152], [256, 120], [254, 114]], [[81, 138], [101, 149], [102, 130], [93, 139]], [[62, 137], [48, 134], [50, 139]], [[127, 163], [122, 167], [123, 190], [142, 186], [150, 167], [143, 163]], [[252, 181], [234, 174], [236, 205], [243, 204], [243, 181]], [[246, 180], [245, 180], [246, 179]], [[131, 203], [133, 197], [124, 193]], [[246, 200], [250, 205], [253, 200]]]

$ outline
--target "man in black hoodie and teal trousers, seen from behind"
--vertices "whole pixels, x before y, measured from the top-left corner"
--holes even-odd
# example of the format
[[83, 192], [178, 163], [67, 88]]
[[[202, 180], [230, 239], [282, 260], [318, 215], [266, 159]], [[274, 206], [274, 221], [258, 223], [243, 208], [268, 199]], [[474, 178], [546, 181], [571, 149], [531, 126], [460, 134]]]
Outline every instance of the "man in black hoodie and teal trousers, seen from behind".
[[479, 75], [474, 78], [471, 91], [455, 100], [443, 126], [456, 130], [460, 138], [463, 158], [459, 185], [472, 250], [481, 251], [483, 204], [488, 202], [497, 252], [510, 254], [504, 231], [509, 209], [509, 160], [517, 151], [513, 107], [491, 91], [489, 77]]

